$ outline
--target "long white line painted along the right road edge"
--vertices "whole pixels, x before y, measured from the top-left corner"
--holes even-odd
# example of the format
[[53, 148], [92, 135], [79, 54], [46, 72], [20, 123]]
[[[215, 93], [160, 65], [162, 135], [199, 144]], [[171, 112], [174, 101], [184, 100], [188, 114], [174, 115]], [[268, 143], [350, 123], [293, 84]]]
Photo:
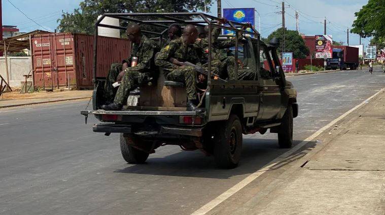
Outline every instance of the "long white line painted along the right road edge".
[[198, 210], [196, 210], [195, 212], [191, 213], [191, 215], [204, 215], [206, 214], [207, 212], [209, 212], [210, 210], [212, 210], [213, 208], [215, 208], [216, 206], [218, 206], [220, 203], [222, 203], [223, 201], [225, 201], [226, 199], [228, 199], [230, 196], [232, 196], [233, 194], [235, 194], [236, 192], [238, 192], [240, 189], [242, 189], [243, 187], [246, 187], [248, 184], [250, 184], [252, 181], [254, 181], [255, 179], [257, 179], [259, 176], [261, 176], [262, 174], [264, 174], [266, 171], [268, 171], [271, 167], [273, 167], [274, 165], [278, 164], [279, 162], [281, 162], [281, 160], [287, 158], [288, 156], [290, 156], [293, 152], [297, 151], [298, 149], [300, 149], [302, 146], [304, 146], [305, 144], [307, 144], [308, 142], [310, 142], [311, 140], [313, 140], [314, 138], [316, 138], [317, 136], [319, 136], [321, 133], [323, 133], [324, 131], [326, 131], [329, 127], [331, 127], [332, 125], [334, 125], [336, 122], [338, 122], [339, 120], [343, 119], [345, 116], [347, 116], [349, 113], [352, 113], [353, 111], [357, 110], [359, 107], [367, 104], [369, 102], [369, 100], [373, 99], [375, 96], [377, 96], [379, 93], [383, 92], [385, 90], [385, 88], [381, 89], [379, 92], [377, 92], [376, 94], [374, 94], [373, 96], [367, 98], [365, 101], [363, 101], [362, 103], [360, 103], [359, 105], [357, 105], [356, 107], [348, 110], [346, 113], [340, 115], [338, 118], [334, 119], [333, 121], [331, 121], [329, 124], [325, 125], [324, 127], [322, 127], [320, 130], [318, 130], [316, 133], [312, 134], [310, 137], [306, 138], [305, 140], [303, 140], [302, 142], [300, 142], [298, 145], [296, 145], [295, 147], [293, 147], [291, 150], [285, 152], [284, 154], [282, 154], [281, 156], [275, 158], [274, 160], [270, 161], [268, 164], [266, 164], [264, 167], [262, 167], [261, 169], [255, 171], [255, 173], [252, 173], [250, 176], [246, 177], [245, 179], [243, 179], [242, 181], [240, 181], [238, 184], [234, 185], [233, 187], [231, 187], [230, 189], [228, 189], [227, 191], [225, 191], [224, 193], [222, 193], [221, 195], [219, 195], [217, 198], [213, 199], [212, 201], [208, 202], [207, 204], [203, 205], [201, 208], [199, 208]]

